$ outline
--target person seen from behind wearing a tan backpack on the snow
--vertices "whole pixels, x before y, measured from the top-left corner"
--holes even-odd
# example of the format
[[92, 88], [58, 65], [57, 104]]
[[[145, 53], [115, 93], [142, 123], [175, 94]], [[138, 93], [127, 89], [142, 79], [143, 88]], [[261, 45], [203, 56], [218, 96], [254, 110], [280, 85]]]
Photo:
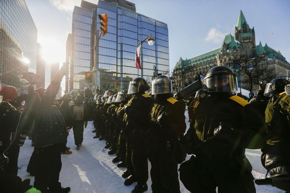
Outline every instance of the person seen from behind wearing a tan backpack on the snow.
[[76, 96], [74, 104], [70, 106], [73, 123], [72, 130], [75, 138], [76, 150], [79, 150], [82, 146], [84, 125], [85, 128], [88, 125], [88, 109], [82, 102], [82, 96]]

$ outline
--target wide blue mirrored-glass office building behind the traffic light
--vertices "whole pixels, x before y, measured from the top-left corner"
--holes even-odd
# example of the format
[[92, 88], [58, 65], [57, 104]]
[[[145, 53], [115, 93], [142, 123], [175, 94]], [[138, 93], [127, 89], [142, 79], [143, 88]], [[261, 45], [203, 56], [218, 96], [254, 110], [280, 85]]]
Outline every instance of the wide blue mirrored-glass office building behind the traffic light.
[[[81, 8], [75, 6], [74, 9], [74, 14], [83, 19], [80, 21], [81, 23], [78, 23], [80, 26], [77, 28], [77, 32], [81, 33], [81, 36], [74, 36], [72, 31], [74, 36], [73, 75], [79, 77], [73, 78], [74, 89], [83, 89], [83, 85], [79, 83], [84, 74], [82, 76], [80, 73], [89, 71], [89, 69], [93, 70], [93, 84], [101, 92], [115, 88], [127, 89], [129, 81], [141, 76], [141, 70], [137, 69], [135, 65], [136, 45], [150, 33], [155, 38], [155, 43], [153, 46], [149, 46], [147, 42], [142, 44], [143, 78], [151, 82], [154, 72], [169, 71], [167, 24], [118, 6], [117, 3], [99, 0], [98, 5], [93, 5], [82, 1]], [[98, 15], [104, 14], [106, 11], [108, 33], [101, 37], [94, 49], [95, 37], [97, 38], [101, 33]], [[76, 30], [76, 16], [73, 16], [72, 30]], [[92, 25], [87, 25], [91, 21], [91, 17]], [[76, 66], [77, 70], [75, 70]], [[84, 83], [86, 82], [84, 81]]]

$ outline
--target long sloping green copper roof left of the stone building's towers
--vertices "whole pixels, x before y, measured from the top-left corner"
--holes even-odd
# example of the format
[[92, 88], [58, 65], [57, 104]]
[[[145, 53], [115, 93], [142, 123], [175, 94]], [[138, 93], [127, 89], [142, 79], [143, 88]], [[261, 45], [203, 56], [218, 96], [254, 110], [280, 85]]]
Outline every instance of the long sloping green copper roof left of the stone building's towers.
[[174, 68], [184, 68], [185, 66], [192, 66], [193, 64], [198, 64], [217, 59], [216, 57], [219, 51], [220, 48], [188, 60], [182, 60], [182, 58], [180, 57], [179, 61], [176, 63]]

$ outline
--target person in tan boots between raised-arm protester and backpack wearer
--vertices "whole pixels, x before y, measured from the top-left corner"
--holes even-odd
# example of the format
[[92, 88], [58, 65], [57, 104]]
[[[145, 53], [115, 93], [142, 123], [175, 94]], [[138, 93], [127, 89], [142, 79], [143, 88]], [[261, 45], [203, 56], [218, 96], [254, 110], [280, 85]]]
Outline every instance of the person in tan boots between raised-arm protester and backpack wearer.
[[[63, 120], [66, 124], [66, 134], [69, 135], [69, 129], [72, 126], [72, 112], [69, 108], [69, 102], [72, 101], [72, 96], [70, 94], [66, 93], [63, 95], [63, 103], [60, 105], [60, 113], [63, 115]], [[66, 139], [67, 139], [66, 136]], [[72, 152], [69, 151], [69, 147], [66, 147], [66, 150], [63, 151], [61, 154], [71, 154]]]

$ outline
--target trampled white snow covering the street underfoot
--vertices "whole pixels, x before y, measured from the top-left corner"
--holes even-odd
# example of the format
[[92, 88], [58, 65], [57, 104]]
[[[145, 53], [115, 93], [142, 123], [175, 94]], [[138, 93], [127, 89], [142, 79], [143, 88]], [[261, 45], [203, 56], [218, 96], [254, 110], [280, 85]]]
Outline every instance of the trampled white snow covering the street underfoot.
[[[188, 113], [185, 111], [187, 128], [189, 127]], [[84, 141], [80, 150], [76, 150], [74, 144], [73, 131], [69, 132], [67, 146], [71, 147], [72, 154], [62, 155], [62, 169], [60, 172], [60, 182], [63, 187], [71, 187], [71, 193], [89, 192], [89, 193], [128, 193], [135, 187], [136, 182], [130, 186], [124, 185], [124, 178], [121, 177], [125, 168], [118, 168], [117, 163], [113, 163], [112, 159], [115, 155], [108, 155], [108, 149], [104, 149], [105, 141], [93, 139], [93, 124], [89, 122], [88, 127], [84, 130]], [[31, 179], [33, 185], [34, 177], [27, 172], [27, 164], [33, 152], [31, 140], [26, 140], [23, 147], [20, 148], [18, 160], [18, 176], [21, 179]], [[255, 179], [263, 179], [266, 170], [260, 161], [260, 150], [246, 150], [246, 156], [253, 166], [253, 176]], [[187, 160], [190, 156], [187, 156]], [[150, 169], [149, 162], [149, 169]], [[148, 190], [151, 193], [151, 178], [147, 182]], [[189, 191], [180, 182], [180, 190], [182, 193]], [[284, 193], [270, 185], [256, 185], [256, 192]]]

